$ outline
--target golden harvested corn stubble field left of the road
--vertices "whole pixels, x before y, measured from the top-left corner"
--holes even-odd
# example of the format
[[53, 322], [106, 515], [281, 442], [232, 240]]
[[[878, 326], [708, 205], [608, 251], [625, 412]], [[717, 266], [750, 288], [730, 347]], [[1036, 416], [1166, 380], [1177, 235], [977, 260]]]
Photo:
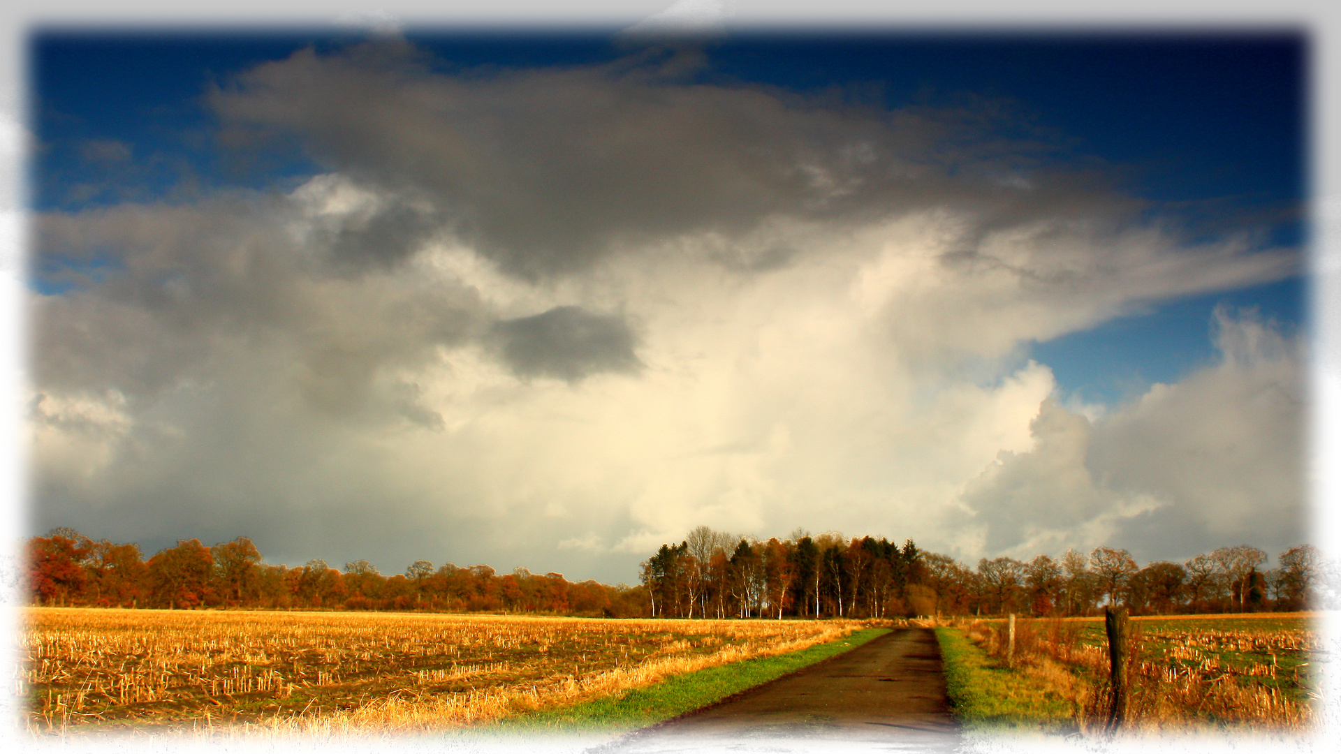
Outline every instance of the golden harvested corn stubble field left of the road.
[[833, 621], [34, 608], [36, 733], [146, 726], [417, 731], [829, 641]]

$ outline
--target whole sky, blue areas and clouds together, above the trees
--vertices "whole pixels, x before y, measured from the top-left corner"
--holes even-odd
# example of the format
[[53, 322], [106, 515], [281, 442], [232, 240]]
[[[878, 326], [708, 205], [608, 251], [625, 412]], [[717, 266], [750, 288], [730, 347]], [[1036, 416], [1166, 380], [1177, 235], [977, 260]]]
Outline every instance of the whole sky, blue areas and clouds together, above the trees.
[[1302, 32], [30, 38], [25, 534], [1307, 539]]

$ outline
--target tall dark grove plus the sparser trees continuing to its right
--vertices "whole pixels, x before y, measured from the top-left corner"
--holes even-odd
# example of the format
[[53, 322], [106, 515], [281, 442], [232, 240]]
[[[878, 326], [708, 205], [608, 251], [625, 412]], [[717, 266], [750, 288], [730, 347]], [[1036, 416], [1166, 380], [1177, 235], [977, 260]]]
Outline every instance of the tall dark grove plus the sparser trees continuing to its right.
[[700, 526], [644, 561], [646, 612], [665, 617], [1088, 616], [1299, 610], [1321, 566], [1311, 545], [1278, 555], [1239, 545], [1185, 562], [1139, 566], [1128, 550], [1074, 549], [1059, 558], [982, 558], [970, 568], [884, 537], [795, 531], [767, 542]]

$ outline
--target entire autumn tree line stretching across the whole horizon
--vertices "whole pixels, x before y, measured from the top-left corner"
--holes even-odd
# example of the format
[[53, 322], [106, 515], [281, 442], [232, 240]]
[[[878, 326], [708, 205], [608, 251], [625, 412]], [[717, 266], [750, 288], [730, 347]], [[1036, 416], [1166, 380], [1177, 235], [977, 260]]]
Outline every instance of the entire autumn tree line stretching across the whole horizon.
[[138, 545], [55, 529], [27, 543], [31, 597], [42, 605], [520, 612], [606, 617], [783, 618], [931, 614], [1086, 616], [1299, 610], [1313, 606], [1322, 562], [1311, 545], [1281, 553], [1239, 545], [1181, 563], [1137, 566], [1128, 550], [1059, 558], [982, 558], [976, 568], [881, 537], [794, 531], [760, 541], [699, 526], [642, 562], [640, 585], [570, 582], [519, 568], [414, 561], [384, 576], [367, 561], [266, 563], [245, 537], [181, 539], [148, 561]]

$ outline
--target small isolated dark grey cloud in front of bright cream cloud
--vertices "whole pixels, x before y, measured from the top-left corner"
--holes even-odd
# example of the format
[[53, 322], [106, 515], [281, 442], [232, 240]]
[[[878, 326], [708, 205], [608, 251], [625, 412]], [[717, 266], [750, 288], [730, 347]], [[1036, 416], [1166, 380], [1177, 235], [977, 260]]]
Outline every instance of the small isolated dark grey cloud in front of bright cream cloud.
[[519, 377], [570, 382], [598, 372], [637, 372], [637, 338], [617, 315], [557, 306], [543, 314], [499, 322], [495, 337]]

